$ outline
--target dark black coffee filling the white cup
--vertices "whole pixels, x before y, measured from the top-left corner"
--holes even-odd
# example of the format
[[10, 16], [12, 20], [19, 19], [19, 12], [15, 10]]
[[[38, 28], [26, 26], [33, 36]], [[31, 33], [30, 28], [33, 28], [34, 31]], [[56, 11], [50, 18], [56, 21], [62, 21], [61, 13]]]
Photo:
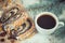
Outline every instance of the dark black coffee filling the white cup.
[[56, 20], [51, 15], [44, 14], [38, 17], [37, 24], [43, 29], [52, 29], [55, 27]]

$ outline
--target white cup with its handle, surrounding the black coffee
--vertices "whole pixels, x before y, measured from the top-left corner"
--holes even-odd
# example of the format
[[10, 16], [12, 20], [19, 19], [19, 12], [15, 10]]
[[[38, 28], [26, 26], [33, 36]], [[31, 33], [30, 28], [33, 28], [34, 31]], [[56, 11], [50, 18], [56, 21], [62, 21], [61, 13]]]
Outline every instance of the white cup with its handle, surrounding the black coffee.
[[[55, 19], [55, 26], [51, 29], [46, 29], [46, 28], [41, 28], [38, 23], [37, 23], [37, 19], [40, 17], [40, 16], [43, 16], [43, 15], [50, 15], [52, 16], [54, 19]], [[51, 12], [42, 12], [40, 14], [38, 14], [36, 17], [35, 17], [35, 25], [36, 25], [36, 29], [38, 30], [39, 33], [42, 33], [42, 34], [51, 34], [53, 33], [56, 29], [61, 28], [64, 26], [64, 23], [63, 22], [58, 22], [58, 18], [56, 17], [55, 14], [51, 13]]]

